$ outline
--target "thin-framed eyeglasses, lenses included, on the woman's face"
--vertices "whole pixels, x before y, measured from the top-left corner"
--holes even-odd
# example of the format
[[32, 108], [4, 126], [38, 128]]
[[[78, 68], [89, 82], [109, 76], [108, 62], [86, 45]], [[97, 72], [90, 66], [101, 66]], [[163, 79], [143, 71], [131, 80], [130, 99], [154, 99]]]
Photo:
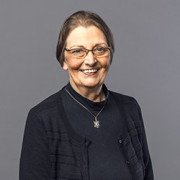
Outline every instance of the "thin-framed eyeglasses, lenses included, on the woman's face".
[[73, 58], [83, 59], [88, 55], [89, 51], [91, 51], [93, 55], [97, 58], [109, 56], [111, 48], [107, 46], [98, 45], [94, 46], [91, 50], [86, 49], [84, 47], [77, 47], [72, 49], [65, 48], [65, 50], [69, 52]]

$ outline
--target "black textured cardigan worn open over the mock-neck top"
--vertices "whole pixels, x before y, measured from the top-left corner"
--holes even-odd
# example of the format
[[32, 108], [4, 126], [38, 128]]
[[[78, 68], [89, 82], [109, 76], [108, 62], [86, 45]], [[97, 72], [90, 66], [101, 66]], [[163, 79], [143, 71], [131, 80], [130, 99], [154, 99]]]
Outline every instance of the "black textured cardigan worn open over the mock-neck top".
[[[140, 107], [132, 97], [110, 93], [124, 116], [123, 133], [117, 142], [133, 180], [153, 180]], [[20, 180], [89, 180], [90, 141], [70, 126], [61, 94], [62, 90], [29, 112], [20, 158]]]

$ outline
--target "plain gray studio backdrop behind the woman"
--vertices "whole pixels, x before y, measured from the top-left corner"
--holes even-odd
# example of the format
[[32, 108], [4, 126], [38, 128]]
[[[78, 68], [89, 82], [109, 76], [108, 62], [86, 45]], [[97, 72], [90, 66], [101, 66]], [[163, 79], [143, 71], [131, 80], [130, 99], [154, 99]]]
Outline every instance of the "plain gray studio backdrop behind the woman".
[[60, 24], [79, 9], [97, 12], [113, 31], [107, 86], [140, 103], [155, 179], [178, 180], [179, 0], [0, 0], [0, 179], [18, 179], [29, 109], [68, 80], [55, 47]]

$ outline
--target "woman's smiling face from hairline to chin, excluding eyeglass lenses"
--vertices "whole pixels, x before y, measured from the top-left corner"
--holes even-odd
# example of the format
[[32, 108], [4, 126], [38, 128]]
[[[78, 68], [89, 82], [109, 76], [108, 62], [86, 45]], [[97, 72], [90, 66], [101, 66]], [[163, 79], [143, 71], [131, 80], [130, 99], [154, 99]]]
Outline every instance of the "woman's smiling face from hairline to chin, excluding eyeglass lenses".
[[[66, 40], [67, 49], [108, 47], [103, 32], [95, 26], [78, 26], [71, 31]], [[104, 83], [110, 66], [110, 51], [106, 56], [95, 57], [89, 51], [84, 58], [76, 58], [69, 51], [64, 52], [63, 69], [69, 73], [69, 80], [74, 89], [99, 88]]]

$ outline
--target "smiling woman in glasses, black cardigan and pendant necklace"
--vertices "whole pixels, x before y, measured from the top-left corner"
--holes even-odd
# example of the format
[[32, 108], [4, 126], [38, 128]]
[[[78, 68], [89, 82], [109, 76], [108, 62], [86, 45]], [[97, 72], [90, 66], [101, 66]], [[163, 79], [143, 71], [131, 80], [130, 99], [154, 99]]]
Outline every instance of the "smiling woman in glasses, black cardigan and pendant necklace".
[[30, 110], [20, 180], [153, 180], [139, 105], [104, 84], [113, 53], [97, 14], [66, 19], [56, 56], [69, 83]]

